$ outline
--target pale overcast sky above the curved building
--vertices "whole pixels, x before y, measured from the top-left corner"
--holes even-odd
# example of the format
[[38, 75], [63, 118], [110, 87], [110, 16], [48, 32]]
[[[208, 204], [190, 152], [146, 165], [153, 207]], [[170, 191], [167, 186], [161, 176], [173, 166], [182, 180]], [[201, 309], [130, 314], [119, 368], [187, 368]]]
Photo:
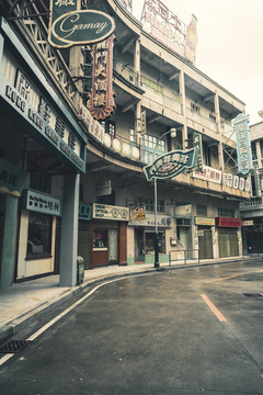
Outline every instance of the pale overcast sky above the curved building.
[[[263, 0], [162, 0], [186, 25], [197, 18], [195, 66], [242, 100], [250, 124], [262, 121]], [[140, 20], [144, 0], [133, 0]]]

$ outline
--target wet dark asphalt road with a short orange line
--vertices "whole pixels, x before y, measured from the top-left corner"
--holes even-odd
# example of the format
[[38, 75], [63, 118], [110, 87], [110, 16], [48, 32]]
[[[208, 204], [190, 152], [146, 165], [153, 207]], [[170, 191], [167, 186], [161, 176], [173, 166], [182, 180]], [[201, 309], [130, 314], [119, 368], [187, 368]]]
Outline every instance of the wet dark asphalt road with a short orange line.
[[110, 282], [0, 366], [0, 394], [263, 394], [261, 292], [263, 262]]

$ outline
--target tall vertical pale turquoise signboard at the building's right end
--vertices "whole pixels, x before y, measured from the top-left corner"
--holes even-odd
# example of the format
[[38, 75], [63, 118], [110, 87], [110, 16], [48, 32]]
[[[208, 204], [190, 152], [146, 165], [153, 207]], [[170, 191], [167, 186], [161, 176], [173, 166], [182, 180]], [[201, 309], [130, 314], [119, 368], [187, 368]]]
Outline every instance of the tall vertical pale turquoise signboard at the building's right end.
[[248, 174], [252, 169], [249, 115], [239, 114], [232, 120], [232, 125], [237, 137], [238, 170], [242, 174]]

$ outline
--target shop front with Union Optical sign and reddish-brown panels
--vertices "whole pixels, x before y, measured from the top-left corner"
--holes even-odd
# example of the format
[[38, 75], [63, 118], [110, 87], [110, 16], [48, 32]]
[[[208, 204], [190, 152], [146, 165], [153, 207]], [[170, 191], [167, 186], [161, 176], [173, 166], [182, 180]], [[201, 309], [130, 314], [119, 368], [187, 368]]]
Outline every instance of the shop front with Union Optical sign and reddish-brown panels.
[[90, 223], [90, 269], [127, 264], [129, 208], [93, 203]]

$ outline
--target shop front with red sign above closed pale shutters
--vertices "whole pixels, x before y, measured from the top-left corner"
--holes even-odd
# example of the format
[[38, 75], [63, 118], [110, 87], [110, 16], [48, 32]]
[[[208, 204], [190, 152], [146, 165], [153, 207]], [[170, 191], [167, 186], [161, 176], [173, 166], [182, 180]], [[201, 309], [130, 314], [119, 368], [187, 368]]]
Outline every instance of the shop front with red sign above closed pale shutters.
[[238, 257], [241, 248], [242, 219], [217, 217], [219, 258]]

